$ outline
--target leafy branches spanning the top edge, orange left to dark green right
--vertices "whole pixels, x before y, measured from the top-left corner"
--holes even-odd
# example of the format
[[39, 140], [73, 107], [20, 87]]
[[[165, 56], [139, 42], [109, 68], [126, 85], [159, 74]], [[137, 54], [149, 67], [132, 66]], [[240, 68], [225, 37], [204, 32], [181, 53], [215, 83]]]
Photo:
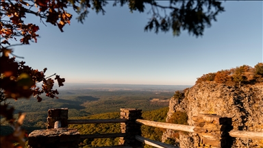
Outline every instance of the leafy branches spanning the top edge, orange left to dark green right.
[[[219, 12], [223, 12], [221, 1], [215, 0], [171, 0], [166, 5], [160, 5], [161, 1], [153, 0], [120, 0], [115, 1], [116, 5], [129, 5], [131, 12], [145, 12], [146, 5], [151, 6], [149, 14], [151, 18], [145, 26], [145, 31], [154, 29], [155, 33], [168, 32], [173, 30], [173, 34], [179, 36], [182, 30], [188, 30], [189, 34], [202, 36], [205, 27], [210, 27], [211, 21], [216, 21]], [[36, 32], [39, 27], [35, 24], [25, 24], [23, 19], [27, 14], [34, 14], [40, 21], [57, 25], [61, 32], [66, 24], [71, 23], [72, 15], [66, 9], [72, 7], [79, 14], [77, 20], [81, 23], [88, 16], [89, 10], [102, 12], [108, 2], [106, 0], [17, 0], [1, 1], [1, 44], [8, 44], [10, 38], [16, 40], [17, 36], [22, 36], [20, 41], [29, 44], [29, 40], [37, 41]], [[37, 8], [37, 9], [36, 9]]]

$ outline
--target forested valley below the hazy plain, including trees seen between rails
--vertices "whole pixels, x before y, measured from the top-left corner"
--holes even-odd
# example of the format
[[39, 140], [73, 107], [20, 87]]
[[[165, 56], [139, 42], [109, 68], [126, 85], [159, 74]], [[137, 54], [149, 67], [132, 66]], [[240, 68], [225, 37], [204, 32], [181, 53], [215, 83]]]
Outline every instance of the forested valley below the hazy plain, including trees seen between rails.
[[[186, 86], [181, 86], [181, 89]], [[25, 112], [23, 128], [29, 134], [33, 130], [47, 129], [47, 110], [51, 108], [68, 108], [68, 119], [119, 119], [120, 108], [138, 108], [142, 118], [149, 121], [165, 122], [169, 99], [172, 90], [60, 90], [59, 99], [43, 97], [41, 102], [36, 98], [8, 100], [14, 106], [15, 116]], [[80, 134], [118, 133], [120, 123], [69, 125]], [[161, 140], [164, 130], [142, 125], [142, 136], [152, 140]], [[1, 136], [12, 133], [12, 128], [1, 119]], [[82, 139], [79, 147], [99, 147], [118, 145], [118, 138]], [[145, 145], [145, 147], [149, 147]]]

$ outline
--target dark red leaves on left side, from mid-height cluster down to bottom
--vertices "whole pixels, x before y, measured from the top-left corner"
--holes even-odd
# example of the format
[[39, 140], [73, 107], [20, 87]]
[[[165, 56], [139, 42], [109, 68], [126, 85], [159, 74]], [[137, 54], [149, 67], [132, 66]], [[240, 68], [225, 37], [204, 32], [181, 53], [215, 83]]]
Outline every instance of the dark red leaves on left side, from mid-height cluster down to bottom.
[[[47, 69], [43, 71], [38, 71], [37, 69], [32, 69], [25, 65], [25, 62], [16, 62], [15, 58], [9, 58], [5, 56], [4, 52], [0, 57], [0, 88], [1, 88], [1, 98], [0, 98], [0, 114], [5, 117], [5, 120], [14, 127], [14, 133], [9, 136], [1, 137], [1, 147], [11, 147], [12, 141], [17, 141], [21, 145], [24, 145], [24, 130], [21, 130], [20, 126], [23, 119], [19, 117], [21, 124], [14, 122], [14, 108], [10, 107], [6, 103], [7, 99], [20, 99], [29, 98], [32, 95], [36, 97], [37, 101], [42, 101], [41, 94], [45, 93], [47, 97], [58, 98], [58, 90], [53, 90], [54, 80], [50, 77], [45, 76]], [[55, 75], [55, 79], [58, 80], [59, 86], [63, 86], [65, 79], [60, 78], [59, 75]], [[39, 82], [42, 82], [42, 87], [37, 86]], [[25, 114], [23, 115], [23, 118]], [[16, 132], [19, 133], [16, 134]], [[3, 142], [4, 140], [4, 142]]]

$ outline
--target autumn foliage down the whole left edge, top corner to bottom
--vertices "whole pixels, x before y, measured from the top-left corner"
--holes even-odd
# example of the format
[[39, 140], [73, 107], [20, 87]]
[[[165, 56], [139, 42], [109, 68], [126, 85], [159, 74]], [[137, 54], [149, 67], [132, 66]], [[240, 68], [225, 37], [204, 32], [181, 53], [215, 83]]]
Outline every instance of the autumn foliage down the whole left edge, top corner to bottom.
[[[0, 49], [0, 114], [4, 116], [14, 127], [14, 133], [10, 136], [1, 136], [1, 147], [14, 147], [13, 143], [20, 143], [21, 147], [25, 144], [25, 131], [21, 130], [20, 126], [23, 123], [24, 115], [18, 119], [18, 124], [14, 125], [14, 108], [8, 108], [5, 104], [6, 99], [21, 99], [29, 98], [32, 95], [37, 97], [37, 101], [42, 101], [40, 95], [45, 93], [47, 97], [58, 98], [58, 90], [53, 90], [54, 79], [45, 77], [45, 72], [32, 69], [25, 65], [25, 62], [16, 62], [15, 58], [9, 58], [12, 49], [9, 49], [10, 39], [16, 38], [22, 44], [29, 44], [29, 41], [37, 42], [39, 27], [35, 24], [25, 24], [23, 18], [27, 14], [33, 14], [40, 21], [46, 20], [47, 22], [58, 25], [62, 31], [62, 27], [66, 23], [70, 23], [72, 18], [71, 14], [64, 11], [68, 0], [15, 0], [4, 1], [1, 0], [1, 21], [0, 21], [0, 34], [1, 34], [1, 49]], [[36, 5], [39, 10], [32, 8]], [[12, 45], [11, 45], [12, 46]], [[59, 75], [55, 76], [58, 80], [59, 86], [63, 86], [64, 78]], [[42, 88], [37, 86], [38, 82], [42, 82]]]

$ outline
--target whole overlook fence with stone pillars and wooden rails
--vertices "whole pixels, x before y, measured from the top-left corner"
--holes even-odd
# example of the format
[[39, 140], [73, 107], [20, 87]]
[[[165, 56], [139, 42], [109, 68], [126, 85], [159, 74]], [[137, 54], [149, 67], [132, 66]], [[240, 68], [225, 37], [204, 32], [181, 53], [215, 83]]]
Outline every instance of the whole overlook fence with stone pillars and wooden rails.
[[[48, 111], [48, 129], [37, 130], [29, 134], [29, 147], [77, 147], [79, 138], [116, 138], [119, 139], [118, 147], [141, 147], [142, 143], [158, 148], [171, 148], [173, 145], [167, 145], [158, 141], [150, 140], [141, 136], [140, 126], [149, 125], [152, 127], [161, 127], [171, 130], [194, 133], [195, 147], [231, 147], [233, 138], [262, 138], [263, 132], [245, 132], [232, 130], [231, 119], [212, 114], [200, 114], [193, 116], [195, 126], [179, 125], [173, 123], [160, 123], [155, 121], [142, 120], [142, 110], [121, 108], [121, 119], [89, 119], [89, 120], [68, 120], [68, 109], [51, 109]], [[121, 123], [121, 133], [113, 134], [84, 134], [80, 135], [72, 129], [67, 129], [68, 124], [90, 124], [90, 123]], [[60, 128], [62, 127], [62, 128]], [[64, 127], [64, 128], [63, 128]], [[55, 129], [54, 129], [55, 128]], [[50, 130], [52, 134], [50, 134]], [[54, 134], [54, 131], [58, 133]], [[42, 134], [36, 134], [36, 133]], [[41, 143], [43, 135], [51, 135], [51, 143], [49, 138], [45, 138]], [[54, 137], [57, 140], [54, 140]], [[75, 138], [77, 137], [77, 138]], [[66, 138], [63, 139], [63, 138]], [[73, 146], [73, 144], [75, 146]], [[117, 146], [116, 146], [117, 147]]]

